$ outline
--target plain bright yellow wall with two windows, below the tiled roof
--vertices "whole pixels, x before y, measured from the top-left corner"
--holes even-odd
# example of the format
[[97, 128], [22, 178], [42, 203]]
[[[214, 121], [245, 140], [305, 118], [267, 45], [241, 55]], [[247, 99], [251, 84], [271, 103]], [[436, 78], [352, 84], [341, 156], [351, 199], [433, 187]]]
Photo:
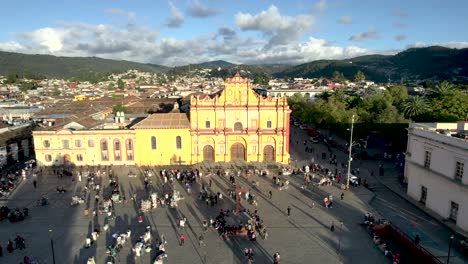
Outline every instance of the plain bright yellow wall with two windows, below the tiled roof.
[[[156, 149], [153, 149], [151, 137], [156, 138]], [[180, 136], [182, 148], [177, 149], [176, 137]], [[135, 129], [135, 151], [137, 165], [190, 165], [191, 139], [189, 129]]]

